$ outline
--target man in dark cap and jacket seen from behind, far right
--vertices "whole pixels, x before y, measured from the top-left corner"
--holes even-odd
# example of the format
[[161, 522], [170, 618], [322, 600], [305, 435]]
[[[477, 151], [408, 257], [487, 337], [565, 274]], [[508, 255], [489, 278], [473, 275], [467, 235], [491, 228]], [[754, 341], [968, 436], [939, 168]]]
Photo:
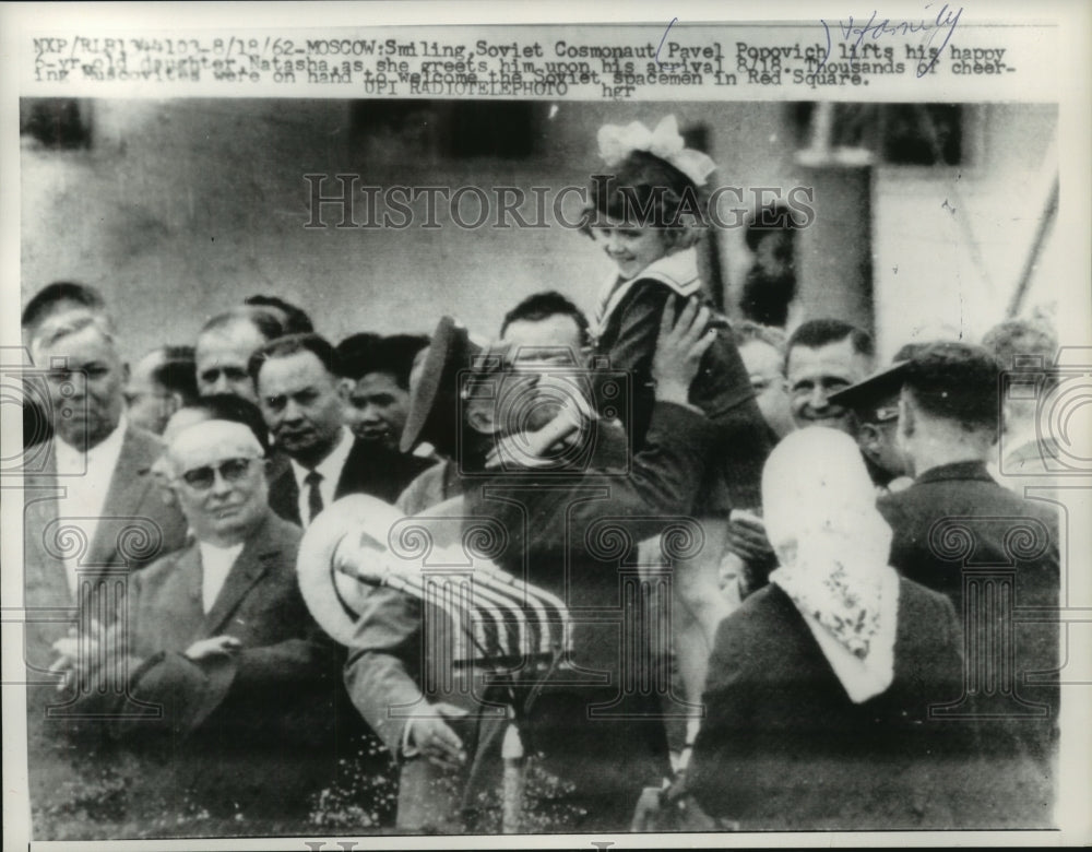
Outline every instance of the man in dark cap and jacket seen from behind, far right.
[[[1049, 825], [1058, 712], [1058, 626], [1051, 622], [1060, 582], [1057, 512], [1048, 502], [1018, 497], [986, 470], [999, 425], [999, 367], [989, 353], [933, 343], [893, 372], [902, 388], [899, 440], [915, 481], [878, 504], [894, 532], [891, 565], [949, 595], [964, 622], [968, 695], [947, 712], [997, 718], [983, 741], [997, 760], [1018, 764], [995, 774], [1025, 779], [999, 786], [998, 819]], [[1019, 754], [1030, 762], [1013, 757]]]

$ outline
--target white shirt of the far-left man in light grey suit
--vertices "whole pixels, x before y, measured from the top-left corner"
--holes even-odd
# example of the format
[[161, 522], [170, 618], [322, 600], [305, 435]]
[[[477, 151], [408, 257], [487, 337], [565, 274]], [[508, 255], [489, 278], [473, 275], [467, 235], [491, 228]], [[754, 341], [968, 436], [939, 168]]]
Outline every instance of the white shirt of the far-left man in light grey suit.
[[[60, 499], [62, 518], [73, 519], [83, 535], [86, 536], [86, 547], [72, 552], [64, 559], [66, 579], [69, 591], [75, 596], [80, 584], [76, 569], [81, 560], [95, 541], [98, 520], [106, 505], [106, 495], [110, 490], [114, 470], [121, 458], [121, 445], [124, 442], [128, 421], [124, 413], [117, 427], [106, 440], [100, 441], [86, 452], [66, 443], [59, 437], [54, 438], [54, 460], [57, 463], [57, 475], [63, 477], [59, 484], [64, 486], [66, 495]], [[79, 519], [79, 520], [75, 520]]]

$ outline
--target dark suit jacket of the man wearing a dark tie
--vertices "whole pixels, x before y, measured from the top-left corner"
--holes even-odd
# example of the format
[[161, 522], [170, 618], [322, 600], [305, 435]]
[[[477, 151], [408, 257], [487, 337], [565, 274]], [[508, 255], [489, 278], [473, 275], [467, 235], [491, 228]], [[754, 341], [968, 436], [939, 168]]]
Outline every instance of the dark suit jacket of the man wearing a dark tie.
[[[272, 471], [270, 506], [286, 521], [298, 524], [299, 486], [296, 484], [296, 476], [292, 464], [283, 455], [274, 458], [283, 459], [283, 462]], [[347, 494], [370, 494], [393, 504], [418, 473], [435, 463], [432, 459], [420, 459], [355, 438], [337, 480], [334, 499]]]

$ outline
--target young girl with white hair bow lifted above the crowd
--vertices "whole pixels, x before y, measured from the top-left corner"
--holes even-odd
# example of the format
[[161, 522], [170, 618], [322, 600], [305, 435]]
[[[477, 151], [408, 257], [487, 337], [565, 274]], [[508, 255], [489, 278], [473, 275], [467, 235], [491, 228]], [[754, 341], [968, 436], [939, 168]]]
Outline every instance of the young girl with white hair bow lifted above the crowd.
[[[652, 416], [652, 356], [667, 298], [673, 293], [704, 298], [695, 246], [705, 224], [701, 187], [715, 165], [686, 147], [674, 116], [653, 131], [637, 121], [607, 125], [598, 143], [608, 168], [592, 178], [583, 230], [601, 242], [616, 270], [600, 293], [592, 332], [609, 369], [630, 377], [631, 402], [622, 421], [636, 450]], [[725, 518], [732, 508], [759, 505], [772, 443], [727, 321], [720, 322], [724, 330], [705, 353], [690, 402], [720, 433], [698, 510]]]

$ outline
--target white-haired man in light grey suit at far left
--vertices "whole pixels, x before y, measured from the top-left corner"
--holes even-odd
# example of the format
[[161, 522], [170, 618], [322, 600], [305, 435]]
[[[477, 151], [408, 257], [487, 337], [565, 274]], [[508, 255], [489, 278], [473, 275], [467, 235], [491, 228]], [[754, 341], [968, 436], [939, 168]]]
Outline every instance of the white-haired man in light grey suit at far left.
[[23, 557], [27, 662], [41, 671], [80, 595], [123, 591], [130, 570], [181, 546], [186, 522], [154, 486], [162, 445], [127, 421], [108, 317], [63, 309], [39, 320], [28, 327], [31, 354], [46, 370], [54, 439], [23, 478]]

